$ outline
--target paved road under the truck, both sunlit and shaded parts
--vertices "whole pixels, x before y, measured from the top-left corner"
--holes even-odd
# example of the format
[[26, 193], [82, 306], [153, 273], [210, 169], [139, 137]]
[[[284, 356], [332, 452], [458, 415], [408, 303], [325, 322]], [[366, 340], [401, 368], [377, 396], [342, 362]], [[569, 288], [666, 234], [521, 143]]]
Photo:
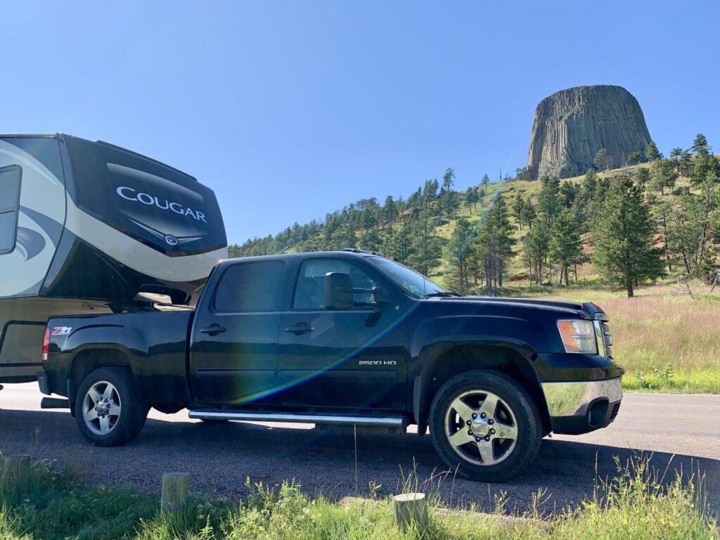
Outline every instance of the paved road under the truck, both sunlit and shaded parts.
[[[266, 485], [295, 479], [310, 494], [340, 498], [367, 492], [369, 482], [381, 484], [381, 493], [395, 492], [401, 467], [407, 474], [413, 461], [421, 481], [442, 469], [427, 436], [360, 433], [356, 484], [351, 433], [299, 424], [208, 426], [189, 420], [186, 411], [152, 411], [131, 444], [91, 448], [69, 413], [40, 410], [40, 398], [35, 384], [6, 385], [0, 392], [0, 450], [58, 459], [81, 467], [99, 482], [132, 482], [159, 490], [163, 472], [184, 470], [192, 475], [192, 489], [208, 495], [238, 498], [250, 477]], [[487, 485], [449, 477], [440, 490], [453, 504], [474, 502], [484, 509], [492, 508], [495, 495], [505, 491], [510, 505], [522, 510], [539, 487], [547, 487], [551, 505], [559, 508], [592, 493], [595, 467], [600, 477], [612, 476], [613, 456], [626, 460], [640, 451], [652, 453], [661, 470], [670, 462], [670, 471], [705, 472], [708, 501], [720, 510], [720, 396], [626, 395], [610, 427], [544, 440], [533, 467], [515, 480]]]

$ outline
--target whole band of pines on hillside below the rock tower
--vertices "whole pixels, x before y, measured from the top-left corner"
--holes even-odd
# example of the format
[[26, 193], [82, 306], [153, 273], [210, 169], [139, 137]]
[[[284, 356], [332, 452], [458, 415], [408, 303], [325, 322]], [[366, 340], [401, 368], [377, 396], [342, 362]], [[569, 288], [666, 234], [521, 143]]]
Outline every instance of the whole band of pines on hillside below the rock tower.
[[[698, 134], [690, 148], [665, 158], [655, 143], [630, 153], [624, 171], [610, 178], [598, 152], [595, 168], [576, 183], [544, 176], [533, 201], [495, 197], [487, 174], [467, 192], [454, 189], [448, 168], [410, 197], [384, 203], [361, 199], [342, 210], [297, 222], [277, 235], [230, 246], [231, 256], [359, 247], [431, 274], [439, 267], [446, 287], [462, 294], [503, 294], [513, 258], [529, 284], [570, 284], [577, 267], [592, 262], [603, 281], [625, 289], [679, 273], [704, 278], [717, 271], [720, 245], [720, 163]], [[678, 179], [689, 186], [678, 187]], [[526, 168], [516, 181], [534, 181]], [[684, 184], [684, 182], [683, 182]], [[462, 207], [480, 220], [459, 217]], [[438, 225], [455, 221], [449, 239]], [[516, 263], [516, 265], [518, 264]]]

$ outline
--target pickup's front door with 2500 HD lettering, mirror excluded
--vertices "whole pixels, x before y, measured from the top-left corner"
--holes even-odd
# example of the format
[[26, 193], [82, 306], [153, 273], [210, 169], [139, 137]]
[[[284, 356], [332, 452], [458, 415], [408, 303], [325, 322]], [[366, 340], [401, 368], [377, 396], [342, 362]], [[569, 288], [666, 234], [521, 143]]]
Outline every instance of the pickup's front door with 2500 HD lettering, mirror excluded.
[[[279, 405], [405, 410], [408, 323], [402, 294], [361, 260], [305, 258], [296, 266], [280, 322]], [[328, 310], [328, 272], [348, 274], [355, 289], [383, 287], [390, 302], [380, 310]], [[360, 302], [363, 296], [372, 295], [355, 294]]]

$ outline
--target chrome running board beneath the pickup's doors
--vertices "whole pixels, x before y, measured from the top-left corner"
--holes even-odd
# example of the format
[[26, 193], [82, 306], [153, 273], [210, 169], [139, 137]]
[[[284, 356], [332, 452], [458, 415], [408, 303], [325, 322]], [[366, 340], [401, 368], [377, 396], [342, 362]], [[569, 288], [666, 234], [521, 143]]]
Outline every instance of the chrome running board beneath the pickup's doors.
[[306, 413], [258, 413], [235, 410], [191, 410], [190, 418], [197, 420], [243, 420], [245, 422], [299, 422], [341, 426], [375, 426], [380, 428], [408, 427], [407, 416], [343, 416]]

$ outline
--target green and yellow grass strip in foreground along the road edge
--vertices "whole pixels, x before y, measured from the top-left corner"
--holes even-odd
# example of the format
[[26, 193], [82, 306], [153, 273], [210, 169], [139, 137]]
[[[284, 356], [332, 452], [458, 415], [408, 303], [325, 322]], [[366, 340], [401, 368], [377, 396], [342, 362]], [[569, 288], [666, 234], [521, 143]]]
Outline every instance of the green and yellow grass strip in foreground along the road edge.
[[[701, 482], [700, 482], [701, 483]], [[22, 490], [0, 477], [0, 540], [31, 539], [713, 539], [697, 477], [663, 484], [647, 461], [618, 466], [618, 477], [598, 485], [580, 508], [544, 513], [540, 491], [534, 509], [505, 515], [431, 505], [424, 531], [400, 531], [388, 499], [333, 503], [310, 500], [300, 486], [250, 485], [246, 500], [194, 498], [172, 516], [158, 515], [158, 497], [133, 488], [89, 487], [52, 462], [33, 466]]]

